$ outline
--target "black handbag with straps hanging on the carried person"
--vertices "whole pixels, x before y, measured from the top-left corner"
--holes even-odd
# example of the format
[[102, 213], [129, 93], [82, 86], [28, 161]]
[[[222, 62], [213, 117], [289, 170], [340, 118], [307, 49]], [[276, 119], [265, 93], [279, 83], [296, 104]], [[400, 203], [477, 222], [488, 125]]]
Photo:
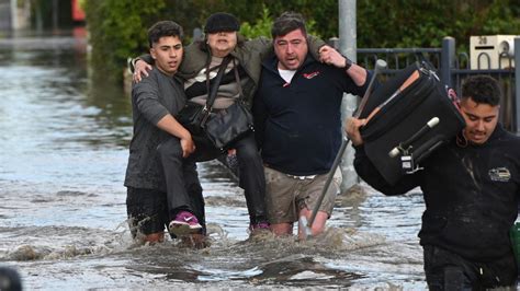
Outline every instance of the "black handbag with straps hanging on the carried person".
[[[236, 66], [234, 66], [234, 70], [239, 90], [239, 98], [227, 108], [213, 109], [222, 77], [230, 59], [231, 57], [229, 56], [223, 60], [212, 88], [210, 89], [210, 85], [207, 85], [208, 96], [206, 104], [203, 106], [189, 101], [177, 115], [178, 121], [194, 136], [197, 148], [196, 141], [199, 140], [199, 143], [201, 143], [205, 142], [204, 139], [206, 139], [219, 151], [225, 151], [235, 141], [253, 130], [252, 115], [244, 104], [244, 94]], [[207, 77], [206, 79], [207, 83], [210, 83], [210, 78]]]

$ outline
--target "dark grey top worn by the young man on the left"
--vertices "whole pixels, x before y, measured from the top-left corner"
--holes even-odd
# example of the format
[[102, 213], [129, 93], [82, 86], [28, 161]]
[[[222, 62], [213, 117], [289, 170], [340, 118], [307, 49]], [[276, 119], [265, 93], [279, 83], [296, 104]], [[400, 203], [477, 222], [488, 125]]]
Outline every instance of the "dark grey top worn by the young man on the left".
[[165, 190], [163, 174], [157, 156], [157, 146], [169, 133], [157, 123], [168, 113], [176, 115], [184, 106], [182, 83], [154, 67], [147, 78], [132, 85], [134, 136], [129, 144], [125, 186]]

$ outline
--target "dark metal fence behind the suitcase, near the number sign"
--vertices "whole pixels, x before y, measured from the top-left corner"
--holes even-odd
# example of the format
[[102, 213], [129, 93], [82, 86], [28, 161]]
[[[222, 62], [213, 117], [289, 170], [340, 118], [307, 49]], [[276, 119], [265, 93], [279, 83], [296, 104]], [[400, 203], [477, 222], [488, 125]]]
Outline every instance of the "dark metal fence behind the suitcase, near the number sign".
[[[513, 57], [506, 54], [499, 56], [500, 59], [506, 59], [506, 63], [509, 66], [498, 69], [488, 67], [489, 56], [486, 56], [485, 53], [478, 57], [477, 69], [471, 69], [468, 54], [455, 53], [453, 37], [444, 37], [441, 48], [359, 48], [358, 63], [373, 69], [376, 59], [384, 59], [388, 67], [383, 71], [383, 78], [387, 78], [415, 61], [428, 60], [438, 70], [441, 81], [455, 89], [459, 94], [461, 84], [466, 77], [473, 74], [491, 75], [499, 81], [504, 93], [500, 104], [500, 121], [506, 129], [519, 133], [520, 101], [517, 98], [520, 97], [520, 78], [517, 77], [520, 75], [520, 37], [515, 38], [515, 47], [517, 49]], [[516, 66], [512, 66], [513, 62]], [[481, 65], [483, 66], [481, 67]]]

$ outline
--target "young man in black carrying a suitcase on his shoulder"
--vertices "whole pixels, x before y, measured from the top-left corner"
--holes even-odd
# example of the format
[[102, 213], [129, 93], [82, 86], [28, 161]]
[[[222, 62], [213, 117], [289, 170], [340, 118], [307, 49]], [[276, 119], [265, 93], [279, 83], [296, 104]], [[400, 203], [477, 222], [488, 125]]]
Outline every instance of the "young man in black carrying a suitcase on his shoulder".
[[359, 129], [366, 120], [347, 123], [355, 148], [354, 167], [366, 183], [385, 195], [421, 188], [426, 211], [419, 237], [431, 290], [516, 288], [509, 230], [518, 216], [520, 138], [498, 124], [500, 96], [493, 78], [466, 79], [460, 101], [466, 127], [433, 152], [422, 171], [394, 186], [385, 183], [365, 154]]

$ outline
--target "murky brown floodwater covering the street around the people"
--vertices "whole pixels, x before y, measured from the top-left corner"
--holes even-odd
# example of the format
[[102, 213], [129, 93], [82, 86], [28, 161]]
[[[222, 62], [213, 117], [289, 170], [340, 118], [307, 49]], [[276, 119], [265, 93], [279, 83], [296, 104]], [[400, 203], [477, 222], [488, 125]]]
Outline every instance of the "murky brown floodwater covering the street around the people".
[[200, 164], [212, 245], [132, 245], [124, 172], [129, 97], [88, 78], [84, 40], [0, 38], [0, 265], [26, 289], [425, 289], [420, 194], [341, 195], [305, 243], [247, 240], [241, 190]]

